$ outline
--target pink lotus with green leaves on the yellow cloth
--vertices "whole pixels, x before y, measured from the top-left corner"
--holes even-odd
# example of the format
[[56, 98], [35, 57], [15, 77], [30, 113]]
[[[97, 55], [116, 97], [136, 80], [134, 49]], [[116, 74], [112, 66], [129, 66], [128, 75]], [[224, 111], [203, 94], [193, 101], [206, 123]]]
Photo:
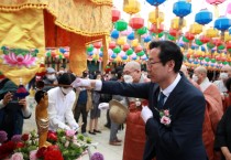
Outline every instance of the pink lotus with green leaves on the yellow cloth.
[[2, 46], [3, 51], [3, 64], [18, 67], [31, 67], [35, 65], [37, 50], [22, 50], [22, 49], [9, 49]]

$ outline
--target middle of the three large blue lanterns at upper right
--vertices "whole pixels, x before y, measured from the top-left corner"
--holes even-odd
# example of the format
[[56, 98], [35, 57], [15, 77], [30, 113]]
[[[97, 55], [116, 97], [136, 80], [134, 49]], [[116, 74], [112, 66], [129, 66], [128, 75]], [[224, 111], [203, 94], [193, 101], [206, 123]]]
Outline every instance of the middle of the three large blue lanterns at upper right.
[[212, 21], [212, 12], [208, 11], [207, 9], [200, 10], [195, 15], [195, 22], [205, 25]]

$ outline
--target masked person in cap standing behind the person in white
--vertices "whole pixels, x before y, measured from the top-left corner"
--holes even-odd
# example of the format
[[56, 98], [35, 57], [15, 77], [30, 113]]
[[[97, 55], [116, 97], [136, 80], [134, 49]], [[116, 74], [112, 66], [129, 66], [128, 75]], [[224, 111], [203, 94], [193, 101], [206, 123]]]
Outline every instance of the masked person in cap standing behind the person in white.
[[53, 67], [46, 68], [46, 75], [43, 82], [45, 85], [44, 90], [46, 92], [50, 90], [51, 88], [54, 88], [54, 86], [52, 86], [53, 84], [57, 84], [56, 71]]

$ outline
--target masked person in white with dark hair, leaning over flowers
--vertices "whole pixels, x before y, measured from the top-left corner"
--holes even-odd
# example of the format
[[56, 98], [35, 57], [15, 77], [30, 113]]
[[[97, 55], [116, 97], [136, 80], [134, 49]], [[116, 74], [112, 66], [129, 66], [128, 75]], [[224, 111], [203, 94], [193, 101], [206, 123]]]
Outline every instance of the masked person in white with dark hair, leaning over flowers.
[[59, 86], [47, 92], [50, 130], [56, 131], [58, 128], [76, 130], [79, 127], [72, 110], [76, 99], [75, 92], [68, 86], [75, 78], [72, 73], [64, 73], [58, 78]]

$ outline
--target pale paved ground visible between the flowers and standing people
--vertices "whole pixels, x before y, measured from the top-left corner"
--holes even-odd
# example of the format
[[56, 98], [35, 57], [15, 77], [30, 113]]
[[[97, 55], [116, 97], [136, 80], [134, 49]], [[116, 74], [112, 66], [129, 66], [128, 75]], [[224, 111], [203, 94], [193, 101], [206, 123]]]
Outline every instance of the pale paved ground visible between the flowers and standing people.
[[[34, 119], [35, 104], [33, 103], [33, 98], [29, 97], [28, 103], [30, 104], [33, 113], [32, 113], [32, 117], [24, 121], [24, 128], [23, 128], [24, 131], [23, 132], [29, 132], [33, 129], [36, 129], [36, 124], [35, 124], [35, 119]], [[89, 117], [88, 117], [88, 119], [89, 119]], [[96, 136], [89, 135], [89, 137], [92, 138], [94, 142], [98, 142], [97, 149], [91, 148], [91, 152], [92, 153], [101, 152], [105, 157], [105, 160], [122, 160], [123, 146], [110, 146], [109, 145], [110, 130], [103, 126], [105, 122], [106, 122], [106, 110], [103, 110], [101, 113], [101, 117], [99, 119], [99, 128], [102, 131], [102, 134], [97, 134]], [[125, 130], [121, 130], [118, 134], [118, 137], [122, 140], [124, 139], [124, 131]], [[82, 158], [82, 160], [89, 160], [89, 157], [85, 156]]]

